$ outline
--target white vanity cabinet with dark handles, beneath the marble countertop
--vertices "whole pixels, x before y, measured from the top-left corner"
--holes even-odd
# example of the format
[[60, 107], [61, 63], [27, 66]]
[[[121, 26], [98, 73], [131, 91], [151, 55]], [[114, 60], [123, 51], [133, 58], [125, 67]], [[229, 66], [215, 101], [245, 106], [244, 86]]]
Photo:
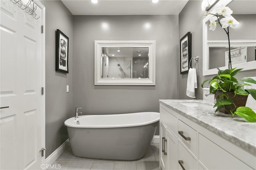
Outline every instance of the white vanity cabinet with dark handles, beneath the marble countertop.
[[256, 169], [256, 156], [160, 103], [159, 166], [160, 170], [248, 170]]

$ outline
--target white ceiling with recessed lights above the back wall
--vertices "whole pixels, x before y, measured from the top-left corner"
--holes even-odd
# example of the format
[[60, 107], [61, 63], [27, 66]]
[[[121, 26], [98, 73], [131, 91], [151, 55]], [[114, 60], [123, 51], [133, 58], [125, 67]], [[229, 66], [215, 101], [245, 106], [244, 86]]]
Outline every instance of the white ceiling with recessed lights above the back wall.
[[73, 15], [178, 15], [188, 0], [62, 0]]

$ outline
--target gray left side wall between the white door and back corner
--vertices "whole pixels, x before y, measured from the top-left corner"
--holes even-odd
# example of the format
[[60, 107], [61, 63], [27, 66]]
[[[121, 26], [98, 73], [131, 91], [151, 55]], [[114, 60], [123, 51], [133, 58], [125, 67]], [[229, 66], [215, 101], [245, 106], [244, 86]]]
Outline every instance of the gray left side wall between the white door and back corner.
[[[73, 16], [59, 0], [42, 0], [46, 7], [46, 158], [68, 139], [64, 121], [74, 116], [72, 92]], [[69, 73], [55, 71], [55, 35], [60, 29], [69, 37]], [[66, 92], [69, 85], [69, 92]]]

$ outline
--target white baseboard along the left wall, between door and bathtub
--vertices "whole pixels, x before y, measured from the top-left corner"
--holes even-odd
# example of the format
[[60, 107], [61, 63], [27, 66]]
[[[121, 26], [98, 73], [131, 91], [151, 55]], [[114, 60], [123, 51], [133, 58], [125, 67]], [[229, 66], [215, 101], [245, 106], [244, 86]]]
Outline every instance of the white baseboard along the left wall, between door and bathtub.
[[45, 159], [45, 164], [51, 165], [55, 160], [58, 159], [58, 157], [67, 149], [67, 147], [70, 145], [69, 139], [67, 139], [60, 147], [58, 147], [52, 154], [50, 154], [46, 159]]

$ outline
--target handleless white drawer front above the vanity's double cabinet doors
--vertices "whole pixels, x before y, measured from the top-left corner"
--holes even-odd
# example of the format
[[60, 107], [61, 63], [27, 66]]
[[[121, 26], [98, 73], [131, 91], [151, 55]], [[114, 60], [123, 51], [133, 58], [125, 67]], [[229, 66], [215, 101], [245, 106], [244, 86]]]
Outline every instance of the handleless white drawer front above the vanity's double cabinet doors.
[[[171, 112], [171, 110], [169, 110]], [[163, 107], [160, 107], [160, 121], [162, 121], [166, 127], [178, 137], [178, 118], [172, 115]]]

